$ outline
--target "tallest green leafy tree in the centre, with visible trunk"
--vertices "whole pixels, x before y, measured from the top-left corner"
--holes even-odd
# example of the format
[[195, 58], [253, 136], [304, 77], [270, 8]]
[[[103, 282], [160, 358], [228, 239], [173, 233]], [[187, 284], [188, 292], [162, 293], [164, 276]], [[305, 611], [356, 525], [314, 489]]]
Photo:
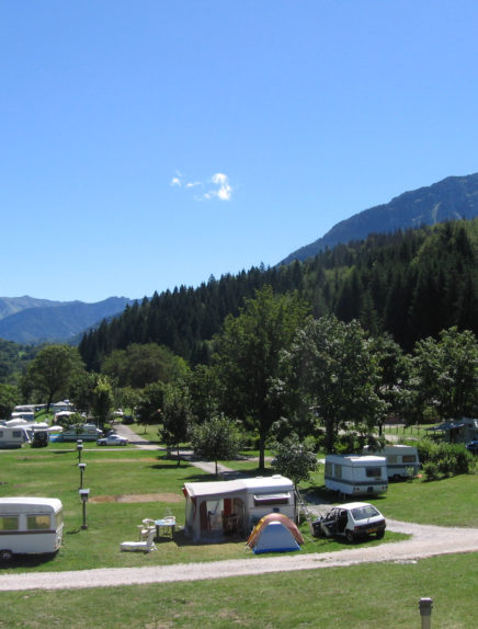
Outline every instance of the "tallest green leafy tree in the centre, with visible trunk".
[[306, 314], [307, 307], [297, 296], [274, 296], [266, 286], [247, 300], [238, 317], [226, 319], [216, 338], [220, 409], [258, 432], [260, 468], [269, 431], [284, 414], [281, 355]]

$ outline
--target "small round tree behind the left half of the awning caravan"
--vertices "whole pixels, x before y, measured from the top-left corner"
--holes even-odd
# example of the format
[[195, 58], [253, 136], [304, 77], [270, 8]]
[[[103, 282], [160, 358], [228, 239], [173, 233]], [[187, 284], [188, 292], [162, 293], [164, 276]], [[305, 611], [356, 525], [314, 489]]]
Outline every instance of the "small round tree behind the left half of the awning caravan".
[[190, 442], [194, 454], [202, 460], [229, 460], [237, 457], [241, 438], [231, 420], [224, 415], [215, 415], [201, 424], [194, 424], [190, 430]]

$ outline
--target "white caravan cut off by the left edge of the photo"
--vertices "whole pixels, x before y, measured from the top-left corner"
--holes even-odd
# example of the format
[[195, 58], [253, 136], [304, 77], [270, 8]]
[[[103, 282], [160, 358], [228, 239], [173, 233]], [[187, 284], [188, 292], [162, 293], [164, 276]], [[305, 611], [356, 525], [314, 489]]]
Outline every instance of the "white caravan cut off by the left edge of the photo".
[[61, 546], [62, 504], [56, 498], [0, 498], [0, 560], [53, 553]]

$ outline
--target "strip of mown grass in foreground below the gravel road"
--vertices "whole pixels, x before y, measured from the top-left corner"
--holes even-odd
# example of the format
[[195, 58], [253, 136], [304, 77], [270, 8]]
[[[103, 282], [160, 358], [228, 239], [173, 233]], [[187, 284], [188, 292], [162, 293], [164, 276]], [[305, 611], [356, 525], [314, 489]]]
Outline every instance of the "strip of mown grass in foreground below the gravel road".
[[[433, 598], [434, 629], [475, 629], [474, 554], [107, 590], [4, 592], [1, 626], [80, 629], [207, 627], [342, 629], [420, 627]], [[39, 584], [41, 585], [41, 584]]]

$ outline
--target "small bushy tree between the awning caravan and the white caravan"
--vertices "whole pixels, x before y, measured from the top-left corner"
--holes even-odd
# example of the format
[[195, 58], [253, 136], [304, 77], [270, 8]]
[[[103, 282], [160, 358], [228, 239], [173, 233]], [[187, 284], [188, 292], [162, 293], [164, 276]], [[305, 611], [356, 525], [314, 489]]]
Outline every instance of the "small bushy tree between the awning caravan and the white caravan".
[[297, 435], [285, 437], [272, 446], [274, 468], [289, 478], [297, 487], [308, 480], [310, 472], [317, 468], [317, 456], [310, 441], [300, 442]]

